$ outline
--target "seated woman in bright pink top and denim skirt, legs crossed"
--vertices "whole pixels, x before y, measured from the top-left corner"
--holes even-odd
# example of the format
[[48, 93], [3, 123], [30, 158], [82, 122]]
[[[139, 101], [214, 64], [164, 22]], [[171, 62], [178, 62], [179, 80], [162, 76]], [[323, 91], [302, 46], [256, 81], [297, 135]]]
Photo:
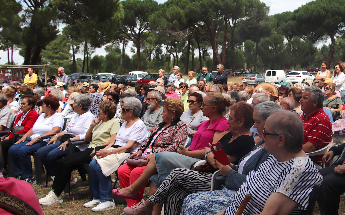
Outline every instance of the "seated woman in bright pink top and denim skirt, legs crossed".
[[209, 118], [209, 120], [199, 125], [190, 147], [184, 148], [179, 146], [180, 149], [177, 150], [177, 153], [155, 153], [154, 158], [147, 163], [144, 172], [137, 181], [128, 187], [122, 187], [122, 189], [118, 187], [113, 190], [113, 193], [122, 198], [138, 199], [140, 189], [150, 180], [150, 195], [152, 195], [173, 169], [190, 168], [191, 164], [203, 159], [205, 151], [210, 151], [208, 143], [218, 142], [221, 137], [229, 132], [227, 119], [223, 116], [226, 106], [230, 106], [228, 97], [224, 98], [218, 92], [208, 93], [203, 103], [201, 103], [201, 109], [203, 115]]

